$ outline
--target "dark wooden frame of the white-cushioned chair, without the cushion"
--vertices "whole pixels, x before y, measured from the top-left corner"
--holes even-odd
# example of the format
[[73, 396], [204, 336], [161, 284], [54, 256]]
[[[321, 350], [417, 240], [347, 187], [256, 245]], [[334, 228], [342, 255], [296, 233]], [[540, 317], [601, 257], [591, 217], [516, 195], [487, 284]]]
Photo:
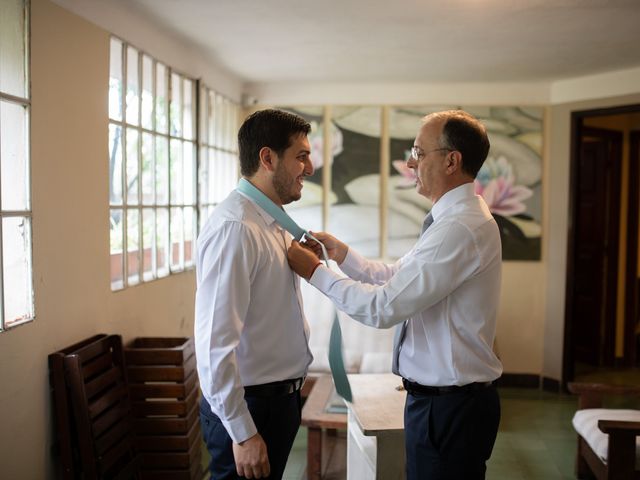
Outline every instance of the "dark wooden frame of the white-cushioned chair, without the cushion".
[[[578, 409], [603, 408], [605, 396], [640, 396], [640, 387], [604, 385], [598, 383], [569, 383], [569, 391], [580, 395]], [[640, 422], [599, 420], [598, 428], [609, 435], [608, 459], [603, 462], [584, 438], [578, 435], [576, 476], [598, 480], [640, 479], [636, 464], [636, 437]]]

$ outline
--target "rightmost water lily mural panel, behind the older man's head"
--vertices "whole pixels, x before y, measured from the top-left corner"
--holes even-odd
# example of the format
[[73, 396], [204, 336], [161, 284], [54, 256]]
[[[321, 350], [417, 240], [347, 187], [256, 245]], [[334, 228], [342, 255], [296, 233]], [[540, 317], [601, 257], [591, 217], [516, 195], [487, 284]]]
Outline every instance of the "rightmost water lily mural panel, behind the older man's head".
[[415, 193], [413, 171], [406, 167], [420, 119], [429, 113], [461, 108], [487, 128], [491, 150], [475, 180], [493, 213], [502, 238], [504, 260], [540, 260], [542, 220], [542, 108], [392, 107], [389, 110], [391, 175], [389, 247], [398, 258], [420, 234], [431, 202]]

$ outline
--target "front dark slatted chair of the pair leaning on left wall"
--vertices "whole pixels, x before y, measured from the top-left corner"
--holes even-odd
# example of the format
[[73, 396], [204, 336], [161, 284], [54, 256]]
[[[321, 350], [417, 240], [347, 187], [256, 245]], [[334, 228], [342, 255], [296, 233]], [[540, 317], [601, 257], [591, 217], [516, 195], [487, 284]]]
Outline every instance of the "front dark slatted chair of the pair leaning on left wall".
[[109, 335], [64, 357], [84, 479], [138, 478], [122, 339]]

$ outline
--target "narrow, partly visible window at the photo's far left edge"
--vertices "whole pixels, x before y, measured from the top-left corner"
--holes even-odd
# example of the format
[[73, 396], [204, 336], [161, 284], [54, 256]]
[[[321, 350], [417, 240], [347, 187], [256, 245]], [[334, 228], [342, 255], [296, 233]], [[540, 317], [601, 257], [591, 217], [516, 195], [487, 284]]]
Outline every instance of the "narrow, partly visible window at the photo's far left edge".
[[29, 154], [29, 10], [0, 8], [0, 331], [34, 319]]

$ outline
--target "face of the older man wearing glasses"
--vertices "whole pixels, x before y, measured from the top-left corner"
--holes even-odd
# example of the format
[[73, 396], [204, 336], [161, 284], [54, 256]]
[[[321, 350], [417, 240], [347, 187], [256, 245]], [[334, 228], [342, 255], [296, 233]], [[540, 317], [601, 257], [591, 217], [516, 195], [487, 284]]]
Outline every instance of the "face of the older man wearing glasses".
[[442, 119], [433, 118], [422, 125], [413, 143], [420, 158], [412, 155], [407, 161], [407, 166], [416, 174], [416, 191], [434, 203], [447, 190], [447, 157], [451, 150], [439, 143], [443, 123]]

